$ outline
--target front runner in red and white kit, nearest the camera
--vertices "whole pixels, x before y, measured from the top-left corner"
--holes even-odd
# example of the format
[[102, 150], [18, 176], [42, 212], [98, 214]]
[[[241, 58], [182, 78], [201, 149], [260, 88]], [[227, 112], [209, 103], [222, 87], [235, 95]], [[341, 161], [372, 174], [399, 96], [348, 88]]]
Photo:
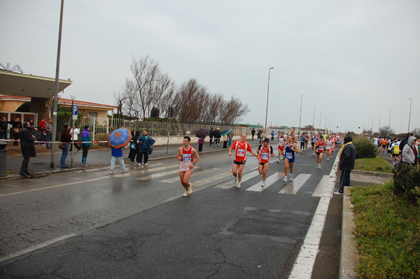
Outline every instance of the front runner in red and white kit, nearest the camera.
[[193, 185], [188, 180], [190, 180], [195, 164], [197, 164], [200, 159], [197, 151], [190, 145], [190, 141], [191, 138], [189, 136], [184, 136], [183, 146], [181, 146], [176, 153], [176, 159], [181, 162], [181, 164], [179, 164], [179, 178], [181, 179], [182, 186], [186, 189], [183, 196], [188, 196], [193, 192]]

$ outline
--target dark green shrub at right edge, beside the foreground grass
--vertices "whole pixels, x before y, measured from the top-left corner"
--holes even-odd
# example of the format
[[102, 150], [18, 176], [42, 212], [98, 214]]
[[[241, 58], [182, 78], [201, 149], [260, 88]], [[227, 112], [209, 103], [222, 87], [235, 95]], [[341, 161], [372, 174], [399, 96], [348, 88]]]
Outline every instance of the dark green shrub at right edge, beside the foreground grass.
[[398, 164], [393, 169], [394, 194], [405, 196], [409, 201], [420, 199], [420, 167], [412, 164]]

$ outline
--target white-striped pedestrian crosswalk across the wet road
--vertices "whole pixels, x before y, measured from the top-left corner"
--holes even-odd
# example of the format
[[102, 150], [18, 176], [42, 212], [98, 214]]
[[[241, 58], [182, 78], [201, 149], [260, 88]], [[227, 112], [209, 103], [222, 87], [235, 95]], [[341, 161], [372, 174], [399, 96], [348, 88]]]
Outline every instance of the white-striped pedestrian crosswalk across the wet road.
[[[333, 171], [331, 171], [333, 173]], [[213, 174], [213, 175], [212, 175]], [[160, 183], [179, 183], [179, 165], [178, 164], [162, 164], [158, 163], [154, 166], [135, 168], [128, 173], [121, 173], [113, 177], [127, 177], [137, 176], [136, 180], [158, 180]], [[210, 175], [210, 176], [209, 176]], [[265, 186], [262, 187], [262, 175], [258, 173], [258, 167], [248, 169], [248, 172], [243, 174], [241, 179], [241, 190], [247, 192], [264, 192], [270, 189], [270, 192], [276, 194], [297, 194], [305, 183], [311, 180], [313, 175], [309, 173], [295, 173], [293, 180], [288, 180], [287, 183], [282, 181], [284, 174], [282, 171], [271, 173], [265, 180]], [[319, 180], [319, 176], [317, 176]], [[195, 191], [205, 189], [207, 187], [215, 187], [218, 189], [235, 189], [237, 184], [234, 184], [234, 177], [232, 171], [222, 171], [221, 168], [213, 167], [205, 169], [202, 166], [197, 166], [190, 178], [193, 183]], [[332, 189], [325, 187], [331, 185], [335, 181], [335, 176], [322, 176], [318, 181], [318, 185], [314, 190], [312, 196], [325, 197], [332, 195]], [[273, 189], [272, 189], [273, 188]], [[235, 189], [237, 190], [237, 189]]]

